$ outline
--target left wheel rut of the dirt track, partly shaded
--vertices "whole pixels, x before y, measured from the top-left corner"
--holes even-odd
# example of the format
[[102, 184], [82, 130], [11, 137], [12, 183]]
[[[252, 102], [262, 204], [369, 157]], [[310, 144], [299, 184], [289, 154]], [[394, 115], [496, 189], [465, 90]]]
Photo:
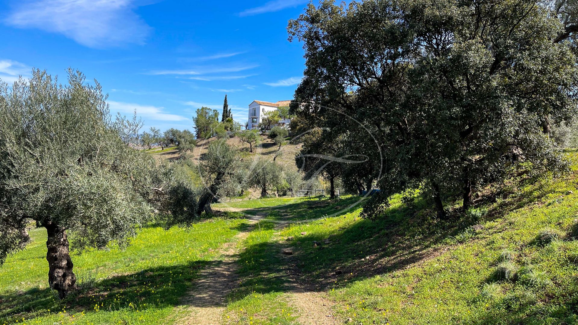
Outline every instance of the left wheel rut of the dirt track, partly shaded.
[[221, 260], [204, 268], [199, 273], [195, 286], [183, 299], [187, 305], [187, 316], [177, 320], [179, 325], [218, 325], [221, 315], [227, 306], [225, 297], [239, 283], [237, 257], [239, 249], [237, 243], [247, 238], [249, 232], [258, 220], [249, 220], [251, 227], [239, 232], [231, 242], [220, 249]]

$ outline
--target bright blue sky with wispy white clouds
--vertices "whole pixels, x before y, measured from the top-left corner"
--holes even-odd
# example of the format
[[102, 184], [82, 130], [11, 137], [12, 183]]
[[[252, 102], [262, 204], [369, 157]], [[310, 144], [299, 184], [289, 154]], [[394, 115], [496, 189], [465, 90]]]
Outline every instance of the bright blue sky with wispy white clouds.
[[97, 79], [111, 110], [145, 128], [192, 129], [197, 108], [247, 120], [253, 99], [291, 99], [303, 73], [287, 21], [307, 1], [0, 0], [0, 79], [32, 67]]

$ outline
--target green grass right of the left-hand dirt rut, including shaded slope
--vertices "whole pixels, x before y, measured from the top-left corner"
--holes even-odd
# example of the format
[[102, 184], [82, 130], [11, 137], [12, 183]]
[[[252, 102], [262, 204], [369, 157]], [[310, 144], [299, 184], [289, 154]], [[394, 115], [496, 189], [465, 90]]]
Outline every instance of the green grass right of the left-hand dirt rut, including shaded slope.
[[[407, 205], [394, 195], [390, 208], [374, 221], [361, 219], [357, 209], [279, 232], [266, 230], [257, 243], [245, 246], [254, 256], [245, 260], [251, 276], [245, 295], [229, 305], [229, 313], [258, 306], [251, 313], [269, 323], [271, 316], [265, 315], [279, 315], [268, 295], [284, 297], [284, 263], [277, 257], [288, 242], [302, 278], [325, 286], [342, 321], [578, 323], [577, 186], [575, 175], [516, 180], [496, 194], [495, 203], [465, 217], [455, 211], [460, 219], [449, 221], [437, 220], [419, 196]], [[334, 204], [311, 202], [292, 202], [281, 212], [308, 209], [313, 216]], [[254, 209], [255, 204], [243, 206]], [[278, 208], [259, 210], [277, 219]], [[472, 226], [478, 223], [483, 228], [476, 231]], [[545, 241], [544, 230], [549, 234]], [[293, 238], [284, 241], [288, 237]], [[497, 276], [500, 263], [509, 263], [512, 276]], [[249, 324], [239, 317], [234, 323]]]

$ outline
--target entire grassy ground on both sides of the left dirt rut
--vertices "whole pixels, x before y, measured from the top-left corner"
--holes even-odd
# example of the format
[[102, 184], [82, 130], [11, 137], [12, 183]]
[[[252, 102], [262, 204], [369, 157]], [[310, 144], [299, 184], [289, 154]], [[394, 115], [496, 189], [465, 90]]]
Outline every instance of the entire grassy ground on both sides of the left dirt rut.
[[[198, 269], [239, 231], [223, 324], [578, 323], [577, 171], [512, 179], [449, 221], [418, 195], [394, 195], [375, 221], [349, 208], [357, 197], [214, 205], [232, 219], [144, 228], [124, 252], [73, 256], [81, 290], [63, 302], [46, 289], [45, 232], [34, 230], [0, 268], [0, 324], [171, 324]], [[249, 216], [261, 220], [248, 228]]]

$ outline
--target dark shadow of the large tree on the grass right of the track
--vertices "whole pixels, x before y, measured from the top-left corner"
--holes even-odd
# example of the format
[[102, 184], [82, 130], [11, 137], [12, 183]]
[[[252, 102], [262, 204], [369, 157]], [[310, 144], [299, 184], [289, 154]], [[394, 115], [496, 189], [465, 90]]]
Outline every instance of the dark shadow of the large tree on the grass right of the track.
[[465, 217], [442, 221], [432, 209], [401, 206], [346, 228], [307, 231], [291, 241], [299, 250], [295, 272], [321, 289], [346, 285], [439, 256], [447, 246], [474, 239], [475, 223]]

